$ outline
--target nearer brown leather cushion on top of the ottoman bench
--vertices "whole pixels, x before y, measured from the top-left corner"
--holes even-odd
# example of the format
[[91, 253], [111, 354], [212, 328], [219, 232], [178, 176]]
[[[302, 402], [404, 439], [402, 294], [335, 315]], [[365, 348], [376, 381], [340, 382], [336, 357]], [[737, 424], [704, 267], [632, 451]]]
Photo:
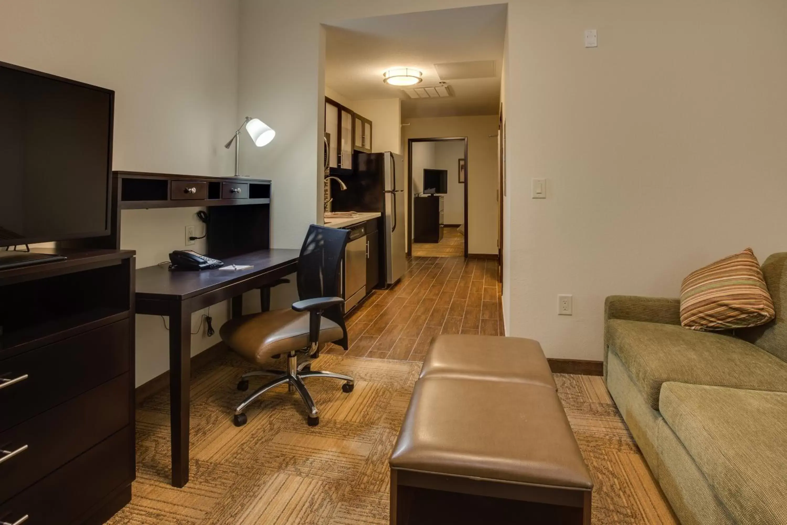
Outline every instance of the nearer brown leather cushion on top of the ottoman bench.
[[390, 466], [530, 486], [593, 488], [555, 390], [523, 382], [419, 379]]

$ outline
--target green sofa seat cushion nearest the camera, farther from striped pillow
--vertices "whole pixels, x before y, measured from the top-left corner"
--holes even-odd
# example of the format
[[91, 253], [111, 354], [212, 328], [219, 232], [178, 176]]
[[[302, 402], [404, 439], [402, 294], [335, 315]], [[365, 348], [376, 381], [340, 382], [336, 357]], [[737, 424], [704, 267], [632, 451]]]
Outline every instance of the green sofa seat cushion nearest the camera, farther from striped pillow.
[[738, 523], [787, 523], [787, 394], [664, 383], [659, 407]]

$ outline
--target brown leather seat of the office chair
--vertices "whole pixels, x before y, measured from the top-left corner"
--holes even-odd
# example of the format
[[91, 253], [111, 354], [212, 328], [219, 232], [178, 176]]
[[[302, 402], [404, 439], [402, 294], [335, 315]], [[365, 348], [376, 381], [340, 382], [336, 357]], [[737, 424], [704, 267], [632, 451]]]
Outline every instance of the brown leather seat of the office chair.
[[[277, 353], [309, 346], [309, 312], [282, 309], [241, 316], [222, 325], [220, 335], [235, 352], [262, 363]], [[342, 337], [342, 327], [325, 317], [320, 320], [321, 343]]]

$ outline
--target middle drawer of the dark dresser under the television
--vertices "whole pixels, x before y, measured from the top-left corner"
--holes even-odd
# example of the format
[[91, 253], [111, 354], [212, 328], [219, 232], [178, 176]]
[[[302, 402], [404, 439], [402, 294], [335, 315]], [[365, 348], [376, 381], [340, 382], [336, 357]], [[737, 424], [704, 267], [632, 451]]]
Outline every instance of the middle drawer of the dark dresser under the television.
[[[74, 457], [126, 427], [131, 405], [128, 374], [0, 434], [0, 501], [18, 494]], [[27, 449], [24, 449], [27, 446]]]

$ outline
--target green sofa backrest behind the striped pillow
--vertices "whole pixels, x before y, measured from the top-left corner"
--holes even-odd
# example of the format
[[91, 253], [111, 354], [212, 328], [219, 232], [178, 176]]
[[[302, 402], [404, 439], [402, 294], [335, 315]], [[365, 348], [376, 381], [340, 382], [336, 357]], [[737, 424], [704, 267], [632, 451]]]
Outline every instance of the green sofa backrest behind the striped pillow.
[[787, 252], [774, 253], [763, 263], [763, 277], [776, 318], [759, 327], [736, 330], [736, 335], [787, 361]]

